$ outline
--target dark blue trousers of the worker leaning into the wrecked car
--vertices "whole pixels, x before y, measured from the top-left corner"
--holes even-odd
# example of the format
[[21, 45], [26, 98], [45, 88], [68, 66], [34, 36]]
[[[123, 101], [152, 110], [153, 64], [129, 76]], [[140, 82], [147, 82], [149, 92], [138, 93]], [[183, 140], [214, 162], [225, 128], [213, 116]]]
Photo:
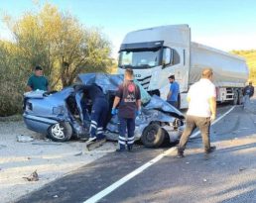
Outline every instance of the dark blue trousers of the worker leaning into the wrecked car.
[[107, 119], [108, 102], [104, 98], [97, 98], [92, 105], [90, 121], [90, 137], [103, 139], [103, 126]]

